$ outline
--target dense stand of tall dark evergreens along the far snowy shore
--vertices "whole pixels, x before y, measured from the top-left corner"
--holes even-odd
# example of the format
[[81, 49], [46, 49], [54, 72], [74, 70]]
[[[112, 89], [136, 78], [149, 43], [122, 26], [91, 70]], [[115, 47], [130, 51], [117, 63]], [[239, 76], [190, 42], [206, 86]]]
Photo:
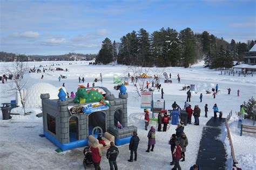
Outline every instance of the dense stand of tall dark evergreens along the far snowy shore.
[[211, 69], [232, 67], [233, 60], [242, 61], [244, 52], [254, 45], [226, 42], [223, 38], [210, 35], [207, 31], [194, 33], [190, 28], [177, 32], [171, 28], [161, 28], [153, 33], [145, 29], [132, 31], [120, 38], [119, 47], [114, 40], [105, 38], [98, 52], [96, 62], [108, 64], [117, 61], [124, 65], [139, 66], [184, 66], [188, 67], [204, 59]]

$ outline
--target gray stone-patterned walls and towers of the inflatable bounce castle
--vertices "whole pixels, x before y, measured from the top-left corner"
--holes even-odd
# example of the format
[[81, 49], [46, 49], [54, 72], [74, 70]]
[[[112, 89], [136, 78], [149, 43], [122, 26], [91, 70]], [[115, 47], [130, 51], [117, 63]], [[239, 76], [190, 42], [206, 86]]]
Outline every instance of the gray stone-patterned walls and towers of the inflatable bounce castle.
[[[127, 98], [128, 94], [120, 94], [119, 98], [115, 98], [113, 94], [105, 87], [99, 87], [103, 89], [105, 94], [105, 99], [109, 101], [110, 107], [108, 110], [101, 111], [106, 114], [106, 130], [113, 134], [116, 139], [122, 139], [130, 137], [133, 131], [137, 131], [136, 126], [129, 126], [127, 123]], [[95, 87], [97, 89], [97, 87]], [[43, 128], [44, 131], [50, 133], [52, 137], [56, 138], [61, 144], [69, 143], [69, 120], [71, 117], [78, 118], [78, 132], [79, 140], [86, 139], [89, 137], [88, 121], [90, 114], [78, 114], [71, 115], [68, 106], [73, 105], [84, 105], [84, 104], [75, 104], [73, 103], [73, 98], [67, 98], [65, 101], [60, 101], [58, 99], [50, 99], [49, 93], [41, 94], [42, 99], [42, 110], [43, 110]], [[86, 103], [87, 104], [87, 103]], [[122, 130], [114, 130], [114, 113], [120, 111], [122, 119], [122, 124], [124, 128]], [[48, 121], [47, 114], [55, 117], [56, 123], [56, 134], [48, 130]]]

